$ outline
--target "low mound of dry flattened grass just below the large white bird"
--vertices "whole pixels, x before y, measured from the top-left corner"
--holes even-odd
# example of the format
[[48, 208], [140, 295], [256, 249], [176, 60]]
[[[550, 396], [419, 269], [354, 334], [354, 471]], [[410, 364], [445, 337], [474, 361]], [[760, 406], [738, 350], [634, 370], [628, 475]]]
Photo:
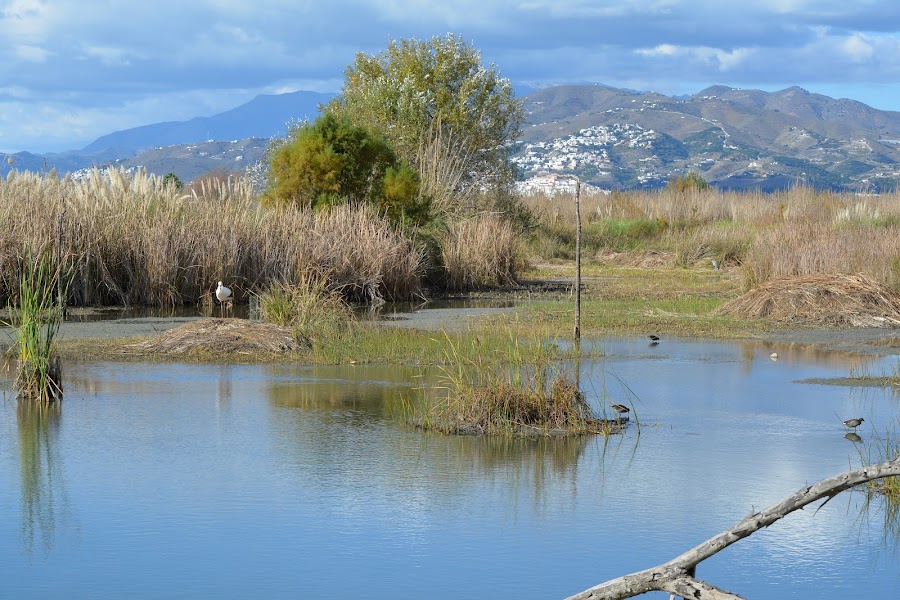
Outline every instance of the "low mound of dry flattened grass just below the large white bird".
[[282, 354], [307, 347], [294, 333], [272, 323], [245, 319], [203, 319], [170, 329], [162, 335], [128, 346], [139, 353], [166, 356], [221, 355], [233, 358], [236, 354]]

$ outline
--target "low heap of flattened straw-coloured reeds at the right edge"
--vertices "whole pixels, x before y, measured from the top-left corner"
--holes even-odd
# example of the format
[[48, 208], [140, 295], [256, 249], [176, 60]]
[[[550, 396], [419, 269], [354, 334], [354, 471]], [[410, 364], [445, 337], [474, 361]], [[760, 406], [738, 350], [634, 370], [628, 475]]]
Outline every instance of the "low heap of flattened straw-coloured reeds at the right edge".
[[721, 314], [798, 324], [900, 325], [900, 294], [862, 275], [775, 279], [719, 308]]

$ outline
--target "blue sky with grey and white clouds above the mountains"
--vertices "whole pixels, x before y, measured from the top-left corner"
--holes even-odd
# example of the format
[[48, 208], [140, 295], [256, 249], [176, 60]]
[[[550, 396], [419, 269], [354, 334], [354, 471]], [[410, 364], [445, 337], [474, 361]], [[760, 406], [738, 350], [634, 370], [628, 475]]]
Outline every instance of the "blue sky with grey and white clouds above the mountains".
[[0, 0], [0, 152], [336, 92], [357, 52], [448, 32], [519, 90], [799, 85], [900, 110], [896, 0]]

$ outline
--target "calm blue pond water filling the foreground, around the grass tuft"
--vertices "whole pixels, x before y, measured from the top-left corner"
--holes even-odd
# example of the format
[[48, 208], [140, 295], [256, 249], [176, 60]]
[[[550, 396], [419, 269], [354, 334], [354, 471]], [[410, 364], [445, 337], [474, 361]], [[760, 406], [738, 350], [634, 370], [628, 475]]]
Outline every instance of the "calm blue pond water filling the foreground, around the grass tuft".
[[[602, 345], [582, 386], [633, 403], [640, 435], [423, 433], [394, 417], [416, 370], [66, 365], [59, 413], [0, 403], [0, 598], [562, 598], [857, 465], [900, 415], [886, 391], [797, 382], [885, 361]], [[698, 575], [751, 598], [896, 598], [897, 535], [863, 504], [794, 513]]]

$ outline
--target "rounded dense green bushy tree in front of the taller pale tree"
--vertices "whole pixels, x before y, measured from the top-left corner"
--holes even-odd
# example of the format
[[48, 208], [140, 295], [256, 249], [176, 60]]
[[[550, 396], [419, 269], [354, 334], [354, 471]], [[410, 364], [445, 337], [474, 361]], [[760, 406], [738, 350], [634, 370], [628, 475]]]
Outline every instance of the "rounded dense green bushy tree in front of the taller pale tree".
[[368, 202], [393, 220], [427, 213], [418, 180], [380, 134], [325, 113], [302, 123], [269, 150], [270, 204], [322, 207]]

